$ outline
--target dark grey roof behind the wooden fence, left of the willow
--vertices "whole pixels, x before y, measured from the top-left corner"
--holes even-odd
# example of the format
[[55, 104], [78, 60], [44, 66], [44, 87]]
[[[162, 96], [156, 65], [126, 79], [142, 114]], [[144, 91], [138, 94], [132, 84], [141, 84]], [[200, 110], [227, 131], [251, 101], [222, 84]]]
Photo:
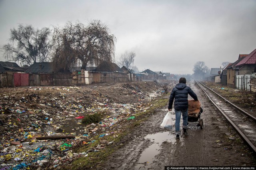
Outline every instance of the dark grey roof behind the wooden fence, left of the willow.
[[52, 73], [53, 63], [34, 63], [28, 67], [27, 73]]

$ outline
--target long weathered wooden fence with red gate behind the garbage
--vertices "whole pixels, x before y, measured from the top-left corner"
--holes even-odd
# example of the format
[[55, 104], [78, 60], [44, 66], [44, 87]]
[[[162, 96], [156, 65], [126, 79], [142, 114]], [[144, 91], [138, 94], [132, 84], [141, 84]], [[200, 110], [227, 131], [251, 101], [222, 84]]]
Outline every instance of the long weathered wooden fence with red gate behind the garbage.
[[[14, 76], [15, 75], [15, 76]], [[141, 81], [135, 74], [118, 72], [72, 72], [72, 73], [48, 73], [48, 74], [0, 74], [0, 87], [14, 86], [82, 86], [100, 82], [127, 82]], [[15, 83], [14, 83], [15, 82]]]

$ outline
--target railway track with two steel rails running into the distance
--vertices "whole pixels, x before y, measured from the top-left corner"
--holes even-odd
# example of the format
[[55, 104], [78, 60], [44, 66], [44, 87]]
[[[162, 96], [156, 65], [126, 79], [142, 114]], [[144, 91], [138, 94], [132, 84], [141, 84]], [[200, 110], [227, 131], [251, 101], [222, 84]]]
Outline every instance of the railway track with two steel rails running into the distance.
[[222, 113], [244, 143], [256, 154], [256, 117], [232, 104], [201, 82], [196, 81], [196, 83], [220, 113]]

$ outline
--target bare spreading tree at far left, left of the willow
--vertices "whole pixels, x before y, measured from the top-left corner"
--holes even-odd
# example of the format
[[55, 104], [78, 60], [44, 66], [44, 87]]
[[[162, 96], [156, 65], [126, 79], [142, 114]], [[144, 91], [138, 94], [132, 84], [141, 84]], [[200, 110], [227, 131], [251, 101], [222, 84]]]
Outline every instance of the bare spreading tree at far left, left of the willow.
[[32, 25], [18, 25], [10, 30], [10, 43], [3, 46], [9, 59], [24, 64], [49, 61], [52, 49], [49, 28], [34, 29]]

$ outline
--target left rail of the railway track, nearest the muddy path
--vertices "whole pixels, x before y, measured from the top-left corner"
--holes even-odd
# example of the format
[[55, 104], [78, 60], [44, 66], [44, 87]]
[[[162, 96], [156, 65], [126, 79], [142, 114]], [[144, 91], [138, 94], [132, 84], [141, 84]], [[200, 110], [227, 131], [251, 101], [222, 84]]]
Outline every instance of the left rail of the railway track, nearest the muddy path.
[[[218, 107], [214, 101], [208, 96], [206, 91], [198, 84], [196, 81], [197, 85], [203, 90], [204, 94], [208, 97], [208, 99], [214, 104], [214, 106], [222, 113], [222, 115], [225, 117], [225, 119], [228, 121], [228, 123], [232, 126], [232, 128], [238, 133], [238, 135], [241, 137], [241, 139], [246, 143], [246, 145], [256, 154], [256, 147], [251, 143], [251, 141], [242, 133], [242, 131], [228, 118], [228, 116]], [[202, 83], [201, 83], [202, 84]], [[206, 86], [205, 86], [206, 87]], [[208, 88], [208, 87], [207, 87]], [[209, 89], [209, 88], [208, 88]], [[210, 89], [211, 90], [211, 89]], [[211, 90], [212, 91], [212, 90]], [[213, 92], [213, 91], [212, 91]], [[215, 93], [215, 92], [214, 92]], [[216, 94], [216, 93], [215, 93]], [[220, 96], [220, 95], [218, 95]]]

